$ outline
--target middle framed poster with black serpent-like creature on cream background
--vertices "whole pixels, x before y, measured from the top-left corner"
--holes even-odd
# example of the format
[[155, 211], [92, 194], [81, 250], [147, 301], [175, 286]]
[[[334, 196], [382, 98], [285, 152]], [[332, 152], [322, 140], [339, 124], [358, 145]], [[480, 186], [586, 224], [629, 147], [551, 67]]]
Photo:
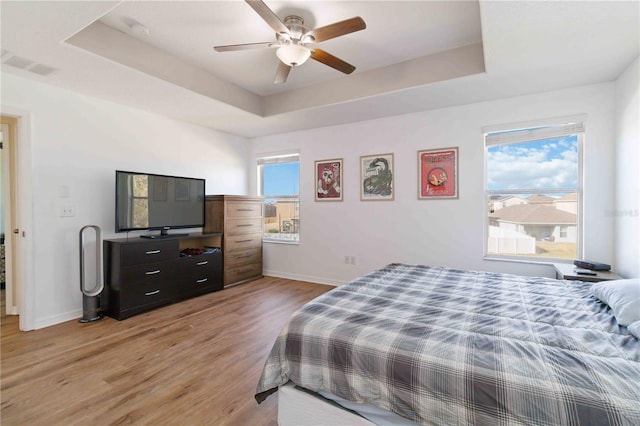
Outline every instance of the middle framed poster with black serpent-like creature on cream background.
[[393, 154], [360, 157], [360, 200], [393, 200]]

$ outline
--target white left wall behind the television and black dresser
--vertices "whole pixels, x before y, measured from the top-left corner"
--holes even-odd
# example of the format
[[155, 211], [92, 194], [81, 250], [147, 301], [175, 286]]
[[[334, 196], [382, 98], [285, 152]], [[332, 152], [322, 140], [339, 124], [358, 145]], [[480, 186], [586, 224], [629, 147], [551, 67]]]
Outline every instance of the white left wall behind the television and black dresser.
[[[247, 192], [247, 140], [4, 73], [3, 112], [31, 116], [35, 328], [82, 315], [78, 233], [115, 234], [115, 170], [206, 178], [207, 193]], [[23, 142], [23, 141], [21, 141]], [[61, 197], [63, 187], [69, 196]], [[61, 204], [75, 217], [59, 216]], [[30, 228], [30, 227], [29, 227]], [[197, 230], [195, 230], [197, 231]], [[135, 235], [135, 234], [131, 234]]]

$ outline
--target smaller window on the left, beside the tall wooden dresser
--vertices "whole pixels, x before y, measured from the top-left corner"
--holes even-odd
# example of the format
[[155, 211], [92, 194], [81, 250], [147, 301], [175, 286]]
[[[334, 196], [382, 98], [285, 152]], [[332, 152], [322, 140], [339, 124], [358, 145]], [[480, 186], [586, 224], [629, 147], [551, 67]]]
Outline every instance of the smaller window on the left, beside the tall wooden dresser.
[[300, 241], [300, 165], [298, 154], [258, 158], [258, 188], [264, 197], [265, 242]]

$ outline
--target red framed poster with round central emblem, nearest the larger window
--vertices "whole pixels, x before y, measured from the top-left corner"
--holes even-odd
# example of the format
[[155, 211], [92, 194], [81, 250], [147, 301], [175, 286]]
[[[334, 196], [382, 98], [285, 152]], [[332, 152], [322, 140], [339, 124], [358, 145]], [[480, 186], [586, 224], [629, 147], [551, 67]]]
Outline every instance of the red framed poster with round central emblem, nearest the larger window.
[[418, 199], [458, 198], [458, 147], [418, 151]]

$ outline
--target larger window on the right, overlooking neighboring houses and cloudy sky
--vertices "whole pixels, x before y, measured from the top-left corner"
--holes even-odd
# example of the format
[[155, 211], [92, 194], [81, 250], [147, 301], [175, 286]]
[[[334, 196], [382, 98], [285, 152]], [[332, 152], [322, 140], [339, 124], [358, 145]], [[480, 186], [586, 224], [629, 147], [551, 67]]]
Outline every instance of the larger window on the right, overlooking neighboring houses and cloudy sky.
[[485, 132], [485, 256], [577, 259], [584, 124]]

